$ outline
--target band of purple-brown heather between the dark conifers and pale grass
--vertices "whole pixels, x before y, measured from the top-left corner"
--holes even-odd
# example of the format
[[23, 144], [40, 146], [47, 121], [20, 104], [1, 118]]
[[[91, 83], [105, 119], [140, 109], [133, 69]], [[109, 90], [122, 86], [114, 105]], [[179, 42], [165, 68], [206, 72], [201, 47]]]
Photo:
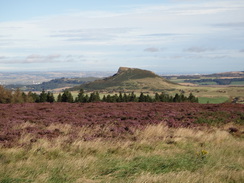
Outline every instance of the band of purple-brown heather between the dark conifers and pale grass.
[[[92, 129], [83, 139], [134, 136], [148, 125], [204, 128], [228, 123], [243, 125], [242, 104], [197, 103], [25, 103], [0, 105], [0, 143], [11, 146], [24, 134], [40, 137], [62, 136], [51, 125], [71, 125], [70, 139], [76, 139], [79, 127]], [[26, 126], [18, 128], [18, 126]], [[235, 127], [236, 129], [236, 127]], [[242, 135], [237, 129], [237, 134]]]

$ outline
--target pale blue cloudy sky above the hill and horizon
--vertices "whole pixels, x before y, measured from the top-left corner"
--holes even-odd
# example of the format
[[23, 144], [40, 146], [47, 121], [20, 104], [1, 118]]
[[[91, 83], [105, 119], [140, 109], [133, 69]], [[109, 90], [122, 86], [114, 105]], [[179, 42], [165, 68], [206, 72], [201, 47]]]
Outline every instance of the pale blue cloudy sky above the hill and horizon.
[[0, 72], [244, 71], [243, 0], [0, 0]]

